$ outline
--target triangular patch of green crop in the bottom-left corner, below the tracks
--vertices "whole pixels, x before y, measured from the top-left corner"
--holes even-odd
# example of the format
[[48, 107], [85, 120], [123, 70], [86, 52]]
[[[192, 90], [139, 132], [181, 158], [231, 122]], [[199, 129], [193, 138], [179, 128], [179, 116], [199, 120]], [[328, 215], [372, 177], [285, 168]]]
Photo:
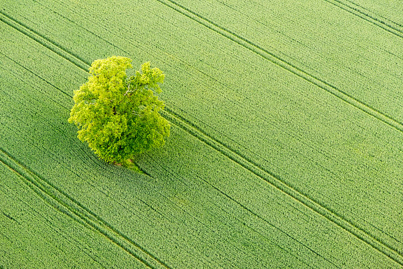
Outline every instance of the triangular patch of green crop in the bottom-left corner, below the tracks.
[[[0, 238], [4, 242], [1, 248], [6, 254], [1, 261], [3, 266], [106, 268], [122, 264], [122, 259], [126, 260], [126, 265], [139, 265], [116, 251], [115, 246], [94, 234], [92, 229], [69, 221], [60, 208], [51, 206], [49, 200], [40, 197], [42, 194], [38, 195], [38, 190], [26, 181], [25, 176], [6, 165], [3, 157], [2, 154], [0, 192], [3, 214], [0, 222], [4, 234]], [[43, 253], [47, 255], [42, 256]]]

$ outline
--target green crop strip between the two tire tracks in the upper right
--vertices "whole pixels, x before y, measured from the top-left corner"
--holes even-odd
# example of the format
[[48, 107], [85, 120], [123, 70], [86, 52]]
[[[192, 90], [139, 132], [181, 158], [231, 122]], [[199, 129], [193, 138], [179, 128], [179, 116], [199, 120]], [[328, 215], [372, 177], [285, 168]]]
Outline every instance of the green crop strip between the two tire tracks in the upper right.
[[[345, 10], [326, 2], [320, 5], [304, 2], [292, 6], [290, 3], [274, 1], [270, 9], [266, 3], [261, 2], [240, 4], [233, 1], [233, 4], [225, 5], [220, 1], [200, 2], [199, 5], [191, 2], [167, 1], [253, 42], [366, 106], [402, 122], [401, 102], [396, 102], [401, 101], [396, 83], [402, 79], [401, 37], [384, 35], [383, 29], [362, 24], [355, 16], [345, 16]], [[288, 14], [272, 17], [272, 9]], [[245, 10], [253, 12], [244, 13]], [[261, 13], [254, 12], [256, 10], [261, 10]], [[294, 17], [290, 18], [290, 14]], [[311, 18], [312, 14], [315, 17]], [[339, 17], [335, 17], [336, 14]], [[343, 25], [340, 16], [345, 19]], [[342, 28], [345, 24], [349, 26]], [[300, 36], [300, 32], [305, 35]], [[357, 32], [363, 38], [354, 39]], [[392, 44], [393, 47], [390, 47]], [[393, 65], [384, 64], [386, 62]], [[373, 98], [374, 95], [382, 98]], [[398, 107], [397, 113], [390, 110], [390, 103], [394, 104], [393, 108]]]

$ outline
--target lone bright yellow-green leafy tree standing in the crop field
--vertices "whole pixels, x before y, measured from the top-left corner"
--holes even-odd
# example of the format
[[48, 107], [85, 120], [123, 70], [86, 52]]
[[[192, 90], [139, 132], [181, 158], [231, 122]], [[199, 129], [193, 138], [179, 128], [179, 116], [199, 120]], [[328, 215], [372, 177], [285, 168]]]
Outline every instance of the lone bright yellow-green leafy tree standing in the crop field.
[[128, 68], [131, 59], [126, 57], [95, 60], [88, 81], [74, 91], [69, 122], [99, 158], [136, 168], [131, 159], [163, 146], [170, 124], [159, 114], [164, 102], [154, 95], [161, 93], [165, 75], [146, 62], [141, 72], [127, 78]]

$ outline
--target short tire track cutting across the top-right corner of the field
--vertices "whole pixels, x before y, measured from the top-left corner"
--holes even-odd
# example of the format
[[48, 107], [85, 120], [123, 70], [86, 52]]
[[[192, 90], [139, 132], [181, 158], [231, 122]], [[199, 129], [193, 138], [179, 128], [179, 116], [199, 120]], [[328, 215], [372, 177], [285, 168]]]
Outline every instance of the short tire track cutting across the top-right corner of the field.
[[[374, 15], [371, 15], [369, 13], [363, 12], [362, 10], [364, 9], [363, 7], [361, 7], [360, 5], [357, 5], [353, 2], [350, 2], [352, 5], [349, 5], [348, 3], [346, 3], [346, 1], [343, 0], [324, 0], [327, 3], [330, 3], [336, 7], [341, 8], [342, 10], [345, 10], [363, 20], [366, 20], [367, 22], [370, 22], [386, 31], [388, 31], [389, 33], [392, 33], [398, 37], [403, 38], [403, 26], [393, 22], [391, 20], [388, 20], [386, 18], [380, 19], [377, 18]], [[386, 21], [390, 21], [390, 23], [387, 23]], [[395, 26], [393, 26], [393, 24], [395, 24]], [[399, 29], [399, 27], [401, 27], [401, 29]]]

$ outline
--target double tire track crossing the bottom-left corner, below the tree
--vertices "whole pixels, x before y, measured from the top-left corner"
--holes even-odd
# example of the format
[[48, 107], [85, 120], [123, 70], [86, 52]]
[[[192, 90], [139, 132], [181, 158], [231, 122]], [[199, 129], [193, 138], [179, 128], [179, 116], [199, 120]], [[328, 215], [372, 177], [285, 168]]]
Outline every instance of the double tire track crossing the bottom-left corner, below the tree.
[[91, 210], [82, 206], [74, 198], [23, 166], [2, 148], [0, 148], [0, 163], [19, 175], [24, 183], [26, 183], [47, 204], [59, 212], [71, 217], [83, 226], [101, 233], [111, 242], [121, 247], [128, 254], [135, 257], [146, 266], [150, 268], [169, 268], [169, 266], [153, 254], [133, 242], [132, 239], [115, 230], [106, 221], [98, 217]]

